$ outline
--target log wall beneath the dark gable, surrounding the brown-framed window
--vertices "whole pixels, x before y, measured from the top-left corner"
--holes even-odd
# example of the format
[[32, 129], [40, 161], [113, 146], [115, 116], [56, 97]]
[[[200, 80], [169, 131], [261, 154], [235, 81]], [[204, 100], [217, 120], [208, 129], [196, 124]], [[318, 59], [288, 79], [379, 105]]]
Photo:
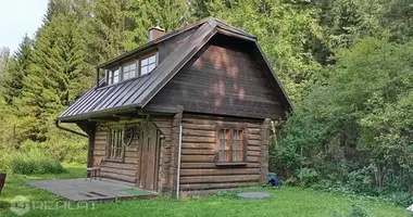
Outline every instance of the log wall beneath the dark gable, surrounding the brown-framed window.
[[[196, 194], [208, 193], [265, 181], [268, 166], [263, 157], [267, 156], [268, 123], [268, 119], [222, 118], [184, 113], [180, 190]], [[216, 165], [216, 125], [247, 126], [246, 165]]]

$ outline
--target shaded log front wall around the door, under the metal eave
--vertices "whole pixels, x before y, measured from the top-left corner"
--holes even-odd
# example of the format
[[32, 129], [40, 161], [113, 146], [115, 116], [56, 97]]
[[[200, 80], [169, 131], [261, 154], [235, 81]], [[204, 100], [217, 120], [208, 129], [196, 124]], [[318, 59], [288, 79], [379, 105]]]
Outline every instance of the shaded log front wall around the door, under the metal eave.
[[[159, 116], [150, 118], [151, 122], [159, 128], [163, 135], [161, 139], [161, 146], [159, 152], [159, 166], [158, 166], [158, 191], [164, 192], [168, 189], [168, 173], [170, 173], [170, 159], [171, 159], [171, 135], [172, 135], [172, 118], [166, 116]], [[97, 126], [95, 135], [93, 146], [93, 163], [95, 166], [101, 167], [101, 177], [116, 179], [126, 182], [136, 183], [139, 171], [139, 139], [138, 133], [134, 135], [134, 139], [130, 145], [125, 148], [125, 157], [123, 162], [115, 162], [107, 159], [109, 149], [109, 129], [111, 127], [125, 127], [125, 126], [139, 126], [140, 119], [129, 119], [121, 122], [102, 122]]]

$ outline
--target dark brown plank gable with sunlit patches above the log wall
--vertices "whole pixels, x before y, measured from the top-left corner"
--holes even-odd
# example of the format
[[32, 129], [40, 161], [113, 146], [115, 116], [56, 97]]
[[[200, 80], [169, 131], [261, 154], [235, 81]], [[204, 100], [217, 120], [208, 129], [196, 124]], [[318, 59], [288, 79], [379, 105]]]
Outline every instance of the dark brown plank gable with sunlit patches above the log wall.
[[171, 112], [179, 104], [185, 112], [284, 118], [279, 88], [254, 49], [240, 39], [214, 36], [145, 110]]

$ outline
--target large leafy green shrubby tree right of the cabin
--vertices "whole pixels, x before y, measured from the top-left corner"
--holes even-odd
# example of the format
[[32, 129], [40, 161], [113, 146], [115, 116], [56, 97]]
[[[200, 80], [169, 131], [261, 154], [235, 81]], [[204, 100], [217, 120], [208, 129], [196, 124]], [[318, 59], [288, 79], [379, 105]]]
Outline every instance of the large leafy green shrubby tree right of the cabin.
[[[365, 38], [337, 50], [330, 77], [287, 120], [285, 164], [304, 164], [342, 184], [358, 176], [368, 182], [374, 175], [378, 188], [406, 190], [413, 156], [412, 56], [413, 43], [388, 39]], [[291, 157], [302, 146], [305, 157]], [[349, 188], [356, 191], [356, 186]]]

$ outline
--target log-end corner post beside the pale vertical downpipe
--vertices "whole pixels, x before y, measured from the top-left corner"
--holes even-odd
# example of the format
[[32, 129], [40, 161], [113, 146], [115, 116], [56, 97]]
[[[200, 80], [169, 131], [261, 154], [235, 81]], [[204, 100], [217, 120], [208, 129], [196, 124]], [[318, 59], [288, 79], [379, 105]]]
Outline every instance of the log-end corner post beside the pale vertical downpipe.
[[170, 190], [172, 190], [172, 197], [176, 197], [176, 173], [178, 161], [178, 145], [179, 145], [179, 126], [183, 120], [184, 106], [177, 105], [176, 113], [172, 120], [172, 142], [171, 142], [171, 162], [170, 162]]

